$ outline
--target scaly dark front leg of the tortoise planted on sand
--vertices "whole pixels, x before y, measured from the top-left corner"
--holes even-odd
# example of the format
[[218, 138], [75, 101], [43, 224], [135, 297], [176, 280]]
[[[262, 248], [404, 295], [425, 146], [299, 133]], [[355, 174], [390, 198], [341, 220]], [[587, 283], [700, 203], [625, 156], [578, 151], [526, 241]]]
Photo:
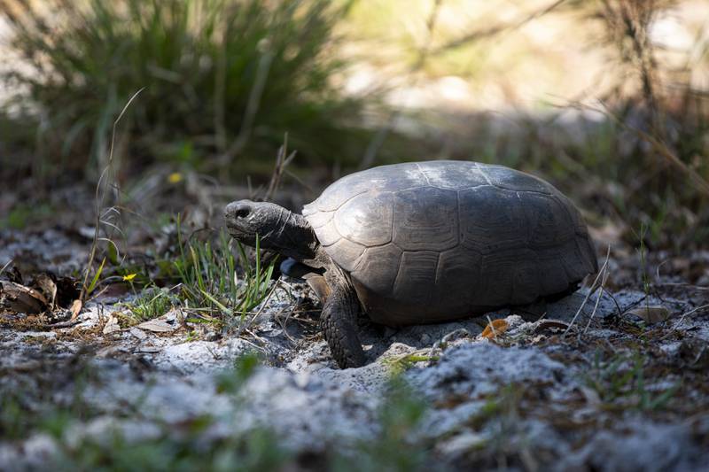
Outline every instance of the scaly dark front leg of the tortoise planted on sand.
[[354, 293], [341, 286], [332, 290], [323, 305], [320, 326], [339, 368], [364, 365], [364, 352], [357, 336], [359, 312], [360, 304]]

